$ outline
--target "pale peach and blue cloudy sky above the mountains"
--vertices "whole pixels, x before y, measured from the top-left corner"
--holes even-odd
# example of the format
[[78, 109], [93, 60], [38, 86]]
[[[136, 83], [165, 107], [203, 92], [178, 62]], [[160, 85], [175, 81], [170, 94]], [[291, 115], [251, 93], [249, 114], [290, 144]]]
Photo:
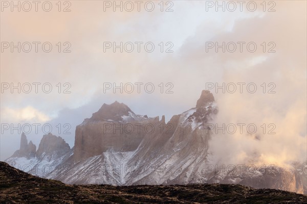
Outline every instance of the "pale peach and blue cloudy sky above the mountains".
[[[61, 12], [56, 2], [52, 2], [50, 12], [43, 11], [41, 5], [37, 12], [35, 5], [29, 12], [23, 8], [20, 12], [16, 9], [11, 12], [10, 5], [8, 8], [2, 5], [2, 127], [5, 123], [15, 126], [40, 123], [39, 133], [35, 133], [32, 125], [32, 132], [27, 134], [28, 141], [32, 140], [38, 147], [43, 135], [41, 126], [50, 123], [52, 133], [63, 137], [73, 147], [75, 126], [91, 117], [104, 103], [117, 100], [136, 114], [160, 118], [165, 115], [168, 121], [172, 115], [195, 107], [206, 83], [219, 86], [222, 83], [254, 83], [255, 93], [249, 93], [246, 86], [243, 93], [211, 90], [220, 109], [217, 122], [255, 123], [259, 128], [263, 123], [273, 123], [276, 134], [258, 131], [254, 136], [259, 136], [260, 140], [244, 134], [217, 135], [211, 141], [215, 159], [244, 162], [256, 152], [257, 162], [283, 165], [295, 160], [305, 161], [306, 2], [275, 1], [264, 8], [261, 1], [256, 1], [255, 11], [250, 11], [253, 5], [247, 7], [247, 3], [240, 11], [240, 5], [234, 1], [236, 9], [233, 12], [230, 11], [233, 5], [225, 3], [225, 12], [222, 8], [217, 8], [216, 12], [215, 5], [211, 8], [211, 3], [202, 1], [164, 3], [161, 12], [159, 2], [154, 2], [151, 12], [145, 10], [145, 2], [140, 12], [136, 3], [132, 12], [125, 11], [130, 5], [126, 5], [123, 12], [119, 8], [114, 12], [113, 6], [106, 8], [103, 1], [70, 1], [71, 5], [61, 5]], [[62, 12], [66, 7], [71, 11]], [[173, 11], [166, 12], [167, 8]], [[24, 9], [28, 6], [24, 5]], [[147, 4], [146, 9], [150, 10], [150, 5]], [[269, 9], [275, 12], [268, 12]], [[14, 42], [14, 45], [31, 42], [32, 50], [25, 53], [21, 49], [18, 53], [14, 48], [12, 53], [11, 47], [5, 48], [8, 44], [4, 42]], [[32, 42], [40, 42], [37, 53]], [[44, 42], [52, 44], [51, 52], [43, 52]], [[124, 49], [121, 53], [117, 48], [114, 53], [113, 47], [104, 50], [105, 42], [117, 45], [131, 42], [134, 50], [128, 53]], [[135, 42], [143, 43], [140, 52]], [[147, 42], [155, 45], [151, 53], [144, 48]], [[234, 43], [223, 53], [223, 48], [217, 52], [215, 47], [208, 48], [215, 42], [219, 45]], [[238, 42], [243, 43], [242, 52]], [[250, 42], [252, 45], [247, 47]], [[130, 49], [131, 43], [125, 48]], [[236, 50], [229, 52], [233, 44]], [[251, 52], [253, 44], [257, 45], [255, 52]], [[48, 49], [48, 45], [46, 47]], [[28, 45], [21, 48], [27, 50]], [[65, 48], [71, 52], [63, 53]], [[166, 53], [167, 48], [172, 52]], [[32, 91], [17, 93], [14, 89], [11, 93], [10, 87], [4, 89], [7, 83], [10, 86], [11, 83], [14, 86], [30, 83]], [[41, 83], [38, 93], [33, 83]], [[47, 91], [42, 91], [44, 83], [52, 85], [50, 93], [45, 93], [48, 86], [45, 86]], [[133, 93], [120, 93], [119, 90], [104, 93], [104, 83], [116, 83], [117, 86], [120, 83], [152, 83], [155, 91], [146, 93], [142, 85], [138, 93], [135, 85]], [[58, 93], [59, 86], [61, 93]], [[26, 85], [24, 88], [28, 90]], [[169, 88], [173, 93], [166, 93]], [[63, 93], [65, 89], [71, 93]], [[275, 93], [268, 93], [270, 90]], [[64, 126], [66, 123], [71, 127]], [[60, 134], [57, 124], [61, 126]], [[63, 134], [66, 129], [70, 129], [71, 134]], [[2, 128], [2, 161], [19, 148], [20, 134], [16, 130], [11, 134], [10, 130]]]

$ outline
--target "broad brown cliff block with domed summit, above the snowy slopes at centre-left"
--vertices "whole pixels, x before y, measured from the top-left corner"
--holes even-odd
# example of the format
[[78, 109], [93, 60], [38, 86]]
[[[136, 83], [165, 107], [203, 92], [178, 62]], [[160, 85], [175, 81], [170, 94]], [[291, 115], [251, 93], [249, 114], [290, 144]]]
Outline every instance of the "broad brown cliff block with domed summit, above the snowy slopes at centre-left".
[[[108, 149], [118, 152], [134, 151], [146, 135], [147, 124], [157, 126], [159, 117], [136, 115], [117, 101], [103, 104], [90, 119], [76, 127], [74, 160], [79, 161], [103, 154]], [[148, 127], [147, 125], [147, 127]], [[148, 127], [148, 130], [150, 129]], [[157, 134], [156, 129], [151, 135]]]

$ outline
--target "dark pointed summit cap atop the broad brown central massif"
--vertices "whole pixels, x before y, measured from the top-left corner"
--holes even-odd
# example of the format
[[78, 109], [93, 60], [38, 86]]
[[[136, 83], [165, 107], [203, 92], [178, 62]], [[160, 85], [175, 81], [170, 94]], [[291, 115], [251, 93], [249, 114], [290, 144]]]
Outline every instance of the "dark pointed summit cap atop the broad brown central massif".
[[103, 120], [122, 120], [122, 116], [128, 116], [129, 112], [134, 114], [128, 106], [123, 103], [118, 103], [116, 100], [113, 104], [103, 104], [101, 108], [93, 113], [90, 118], [91, 121], [103, 121]]

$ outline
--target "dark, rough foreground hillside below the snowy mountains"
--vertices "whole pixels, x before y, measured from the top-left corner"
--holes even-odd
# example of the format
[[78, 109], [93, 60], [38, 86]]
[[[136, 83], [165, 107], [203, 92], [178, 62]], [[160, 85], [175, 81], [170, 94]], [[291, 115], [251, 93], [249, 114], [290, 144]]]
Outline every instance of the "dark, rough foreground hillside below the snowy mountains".
[[307, 203], [307, 196], [233, 184], [67, 185], [0, 162], [0, 203]]

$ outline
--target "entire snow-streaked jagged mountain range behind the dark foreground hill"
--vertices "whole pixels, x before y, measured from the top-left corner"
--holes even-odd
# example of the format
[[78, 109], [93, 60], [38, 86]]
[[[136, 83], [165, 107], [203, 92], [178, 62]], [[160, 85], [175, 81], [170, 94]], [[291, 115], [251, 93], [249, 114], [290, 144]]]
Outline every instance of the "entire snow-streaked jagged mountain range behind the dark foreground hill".
[[[117, 101], [103, 104], [76, 127], [74, 148], [60, 137], [43, 136], [31, 162], [48, 164], [50, 170], [28, 172], [67, 184], [224, 183], [307, 193], [306, 164], [252, 172], [208, 171], [212, 136], [207, 123], [213, 122], [217, 113], [213, 94], [207, 91], [202, 91], [195, 108], [174, 115], [167, 123], [164, 116], [159, 120], [137, 115]], [[33, 153], [30, 143], [21, 136], [18, 154]], [[17, 164], [18, 154], [6, 161]]]

